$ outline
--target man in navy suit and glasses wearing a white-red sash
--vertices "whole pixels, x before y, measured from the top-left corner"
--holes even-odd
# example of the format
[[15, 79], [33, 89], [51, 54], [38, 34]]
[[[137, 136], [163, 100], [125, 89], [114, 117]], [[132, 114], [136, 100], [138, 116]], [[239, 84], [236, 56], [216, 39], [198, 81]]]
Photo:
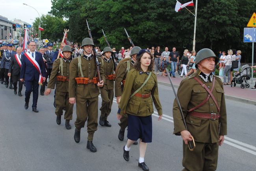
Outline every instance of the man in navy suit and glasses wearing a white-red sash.
[[29, 52], [22, 55], [21, 69], [20, 69], [20, 81], [25, 80], [25, 109], [28, 109], [28, 103], [30, 94], [33, 90], [33, 104], [32, 110], [37, 110], [38, 88], [39, 84], [45, 81], [45, 63], [43, 61], [42, 54], [35, 52], [35, 42], [30, 42], [28, 45]]

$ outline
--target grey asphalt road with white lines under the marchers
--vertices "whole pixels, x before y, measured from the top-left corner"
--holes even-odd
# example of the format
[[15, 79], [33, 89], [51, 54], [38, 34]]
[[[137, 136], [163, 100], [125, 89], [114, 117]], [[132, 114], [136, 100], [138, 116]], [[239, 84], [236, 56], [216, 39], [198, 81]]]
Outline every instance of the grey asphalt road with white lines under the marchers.
[[[74, 107], [72, 129], [65, 129], [65, 120], [56, 124], [53, 94], [40, 96], [37, 109], [32, 112], [32, 95], [28, 110], [23, 96], [0, 84], [0, 171], [136, 171], [139, 146], [133, 145], [130, 161], [122, 158], [125, 145], [117, 138], [117, 104], [113, 102], [109, 122], [112, 127], [98, 126], [93, 143], [96, 153], [86, 149], [87, 130], [82, 129], [81, 141], [74, 142]], [[148, 144], [145, 162], [151, 171], [182, 170], [182, 138], [173, 135], [172, 106], [174, 94], [170, 87], [159, 85], [163, 119], [153, 114], [153, 142]], [[99, 107], [101, 98], [99, 98]], [[256, 170], [256, 106], [226, 100], [228, 135], [219, 148], [219, 171]], [[98, 110], [99, 111], [99, 110]], [[156, 110], [155, 110], [156, 111]], [[99, 111], [100, 113], [100, 111]], [[86, 123], [85, 123], [86, 124]], [[127, 133], [127, 131], [126, 131]], [[125, 136], [126, 136], [125, 133]]]

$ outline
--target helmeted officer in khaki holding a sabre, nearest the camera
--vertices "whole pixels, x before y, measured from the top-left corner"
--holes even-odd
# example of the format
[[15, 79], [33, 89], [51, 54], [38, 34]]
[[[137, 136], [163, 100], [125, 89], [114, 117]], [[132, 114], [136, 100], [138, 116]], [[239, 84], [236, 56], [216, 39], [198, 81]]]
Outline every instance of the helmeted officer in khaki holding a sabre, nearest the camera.
[[[211, 49], [201, 49], [197, 53], [197, 72], [182, 80], [178, 88], [178, 98], [184, 113], [187, 130], [174, 100], [174, 134], [181, 135], [183, 142], [184, 171], [214, 171], [217, 169], [218, 149], [227, 134], [226, 105], [223, 84], [212, 75], [218, 58]], [[195, 140], [195, 149], [186, 145]]]

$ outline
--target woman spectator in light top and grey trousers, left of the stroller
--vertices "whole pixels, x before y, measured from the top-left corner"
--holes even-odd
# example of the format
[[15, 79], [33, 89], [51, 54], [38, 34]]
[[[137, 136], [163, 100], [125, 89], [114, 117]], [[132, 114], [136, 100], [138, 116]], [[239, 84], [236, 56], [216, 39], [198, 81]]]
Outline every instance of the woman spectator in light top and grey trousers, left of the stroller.
[[[230, 70], [232, 68], [232, 59], [233, 59], [233, 51], [231, 49], [228, 50], [228, 55], [226, 56], [224, 60], [225, 68], [224, 68], [224, 82], [223, 85], [230, 85]], [[228, 74], [228, 80], [226, 80], [226, 74]], [[229, 82], [226, 82], [229, 81]]]

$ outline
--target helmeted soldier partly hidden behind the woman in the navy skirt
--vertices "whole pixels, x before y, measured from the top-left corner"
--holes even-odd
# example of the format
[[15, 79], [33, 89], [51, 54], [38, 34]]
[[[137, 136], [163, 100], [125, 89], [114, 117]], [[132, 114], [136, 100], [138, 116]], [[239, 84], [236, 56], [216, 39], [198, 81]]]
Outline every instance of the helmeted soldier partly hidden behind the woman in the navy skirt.
[[[140, 47], [135, 46], [132, 48], [131, 53], [130, 53], [130, 60], [127, 60], [125, 62], [120, 63], [119, 65], [119, 70], [116, 73], [116, 78], [115, 78], [115, 96], [117, 97], [117, 104], [119, 103], [122, 95], [122, 89], [125, 84], [125, 79], [127, 73], [130, 72], [130, 70], [134, 69], [134, 63], [136, 61], [136, 55], [139, 53], [141, 50]], [[120, 113], [120, 111], [118, 112]], [[127, 127], [127, 116], [124, 114], [122, 118], [120, 119], [120, 123], [118, 123], [120, 126], [119, 134], [118, 134], [118, 139], [120, 141], [124, 140], [124, 131]], [[137, 141], [134, 142], [134, 144], [138, 144]]]

